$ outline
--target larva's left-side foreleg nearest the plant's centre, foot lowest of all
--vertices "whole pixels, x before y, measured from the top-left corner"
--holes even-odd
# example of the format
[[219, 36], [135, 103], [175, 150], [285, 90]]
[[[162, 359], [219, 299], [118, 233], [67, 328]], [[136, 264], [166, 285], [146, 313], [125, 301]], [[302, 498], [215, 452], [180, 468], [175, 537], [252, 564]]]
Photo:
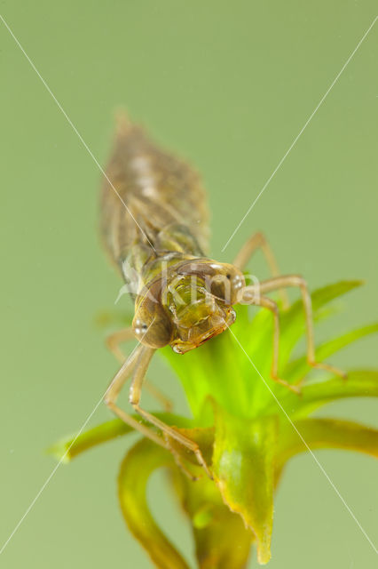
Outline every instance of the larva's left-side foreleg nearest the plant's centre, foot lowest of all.
[[161, 429], [162, 433], [168, 437], [176, 439], [181, 445], [185, 446], [189, 451], [194, 453], [197, 461], [203, 467], [205, 472], [208, 474], [210, 478], [212, 478], [211, 473], [209, 471], [208, 465], [204, 460], [201, 449], [197, 443], [192, 441], [190, 438], [185, 437], [181, 433], [179, 433], [173, 427], [170, 427], [151, 413], [148, 413], [144, 409], [141, 409], [139, 406], [140, 398], [142, 395], [142, 385], [145, 379], [147, 367], [151, 361], [151, 357], [153, 357], [154, 349], [152, 348], [143, 348], [140, 356], [138, 357], [138, 365], [136, 366], [136, 370], [134, 376], [132, 378], [131, 387], [130, 387], [130, 394], [129, 394], [129, 401], [130, 404], [134, 407], [135, 411], [139, 413], [141, 417], [146, 419], [146, 421], [151, 422], [155, 427]]

